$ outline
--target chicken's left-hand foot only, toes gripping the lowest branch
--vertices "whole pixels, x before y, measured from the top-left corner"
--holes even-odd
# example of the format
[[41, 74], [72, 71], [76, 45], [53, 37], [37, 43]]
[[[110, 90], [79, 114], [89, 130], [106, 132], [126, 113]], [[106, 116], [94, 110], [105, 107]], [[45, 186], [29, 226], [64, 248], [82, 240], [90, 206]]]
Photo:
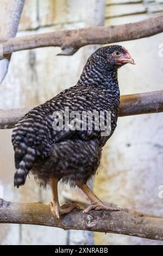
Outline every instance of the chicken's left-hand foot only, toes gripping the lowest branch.
[[74, 208], [80, 208], [77, 204], [64, 204], [60, 206], [59, 204], [49, 203], [51, 207], [52, 214], [59, 218], [62, 214], [69, 214]]

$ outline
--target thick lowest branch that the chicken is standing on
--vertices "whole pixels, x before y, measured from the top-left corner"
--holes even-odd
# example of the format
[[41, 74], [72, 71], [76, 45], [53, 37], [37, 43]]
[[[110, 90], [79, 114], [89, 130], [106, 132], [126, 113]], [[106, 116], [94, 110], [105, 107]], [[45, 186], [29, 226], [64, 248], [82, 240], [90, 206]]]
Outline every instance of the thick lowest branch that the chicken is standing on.
[[48, 205], [12, 203], [0, 199], [0, 223], [46, 225], [65, 230], [89, 230], [163, 240], [163, 218], [132, 214], [128, 210], [91, 210], [89, 214], [83, 214], [83, 210], [75, 209], [57, 220]]

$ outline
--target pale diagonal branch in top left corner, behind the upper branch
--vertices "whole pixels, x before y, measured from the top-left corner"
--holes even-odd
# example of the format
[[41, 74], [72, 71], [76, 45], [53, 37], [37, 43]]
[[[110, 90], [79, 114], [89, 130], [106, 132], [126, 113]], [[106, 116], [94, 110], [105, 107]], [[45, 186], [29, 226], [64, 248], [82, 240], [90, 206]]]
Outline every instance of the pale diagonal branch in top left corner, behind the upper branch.
[[[24, 0], [1, 1], [0, 8], [0, 43], [9, 38], [15, 37], [18, 23], [20, 21]], [[1, 45], [2, 48], [2, 45]], [[11, 52], [9, 52], [11, 53]], [[3, 51], [4, 59], [0, 62], [0, 84], [8, 72], [11, 54]], [[1, 58], [0, 58], [1, 59]]]

